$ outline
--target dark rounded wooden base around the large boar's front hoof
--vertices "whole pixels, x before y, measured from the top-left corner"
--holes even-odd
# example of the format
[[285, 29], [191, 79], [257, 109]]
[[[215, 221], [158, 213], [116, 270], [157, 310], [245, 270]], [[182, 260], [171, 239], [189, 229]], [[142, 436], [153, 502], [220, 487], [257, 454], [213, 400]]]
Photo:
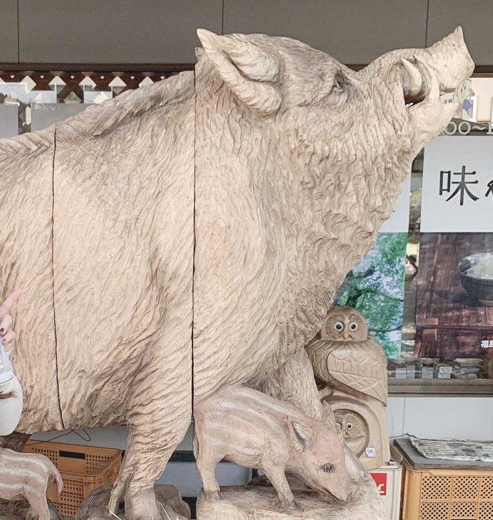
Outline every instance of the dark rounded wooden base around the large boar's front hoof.
[[[111, 485], [101, 486], [90, 493], [79, 506], [75, 520], [116, 520], [108, 513], [112, 488]], [[157, 501], [162, 505], [162, 520], [190, 520], [190, 508], [186, 502], [181, 500], [180, 492], [175, 486], [157, 484], [154, 486], [154, 491]], [[125, 520], [125, 509], [120, 508], [116, 515], [121, 520]]]

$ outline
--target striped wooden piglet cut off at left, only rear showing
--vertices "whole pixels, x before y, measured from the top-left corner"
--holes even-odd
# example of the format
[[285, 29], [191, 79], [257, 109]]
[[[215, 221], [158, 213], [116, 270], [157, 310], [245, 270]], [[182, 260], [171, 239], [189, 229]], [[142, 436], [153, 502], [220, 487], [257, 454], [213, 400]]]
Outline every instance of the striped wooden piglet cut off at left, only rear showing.
[[50, 520], [46, 491], [54, 480], [60, 494], [63, 487], [60, 473], [44, 455], [0, 448], [0, 498], [25, 498], [30, 505], [28, 518]]

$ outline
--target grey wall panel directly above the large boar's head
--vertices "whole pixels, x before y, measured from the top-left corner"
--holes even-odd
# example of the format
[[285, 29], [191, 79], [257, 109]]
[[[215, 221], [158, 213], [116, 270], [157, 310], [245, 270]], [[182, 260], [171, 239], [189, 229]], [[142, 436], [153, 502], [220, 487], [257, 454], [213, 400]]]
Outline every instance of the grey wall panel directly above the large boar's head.
[[346, 64], [423, 47], [427, 0], [225, 0], [224, 32], [290, 36]]

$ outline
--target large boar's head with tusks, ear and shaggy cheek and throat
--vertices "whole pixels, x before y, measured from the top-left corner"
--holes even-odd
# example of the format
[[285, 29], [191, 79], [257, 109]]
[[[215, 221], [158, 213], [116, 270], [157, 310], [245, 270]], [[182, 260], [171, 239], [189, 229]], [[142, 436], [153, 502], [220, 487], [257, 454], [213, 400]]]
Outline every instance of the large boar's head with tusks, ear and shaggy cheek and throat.
[[[321, 234], [365, 240], [367, 249], [412, 160], [458, 108], [440, 94], [474, 67], [460, 28], [430, 48], [393, 51], [358, 72], [290, 38], [198, 35], [200, 60], [210, 59], [223, 81], [217, 110], [229, 114], [227, 130], [242, 127], [243, 145], [235, 146], [250, 151], [240, 163], [254, 182], [272, 185], [277, 199], [289, 193], [293, 215], [284, 219], [311, 206]], [[345, 272], [358, 260], [347, 258]]]

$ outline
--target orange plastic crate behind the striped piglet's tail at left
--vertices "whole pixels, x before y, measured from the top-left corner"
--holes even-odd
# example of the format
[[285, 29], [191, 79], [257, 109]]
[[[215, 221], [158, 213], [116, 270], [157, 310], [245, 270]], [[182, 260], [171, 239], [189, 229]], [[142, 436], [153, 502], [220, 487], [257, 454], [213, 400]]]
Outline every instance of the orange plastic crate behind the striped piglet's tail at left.
[[113, 484], [122, 459], [122, 452], [110, 448], [94, 448], [76, 444], [39, 443], [28, 440], [24, 453], [41, 453], [55, 464], [63, 479], [63, 490], [57, 495], [56, 484], [48, 498], [65, 516], [75, 516], [81, 502], [99, 486]]

